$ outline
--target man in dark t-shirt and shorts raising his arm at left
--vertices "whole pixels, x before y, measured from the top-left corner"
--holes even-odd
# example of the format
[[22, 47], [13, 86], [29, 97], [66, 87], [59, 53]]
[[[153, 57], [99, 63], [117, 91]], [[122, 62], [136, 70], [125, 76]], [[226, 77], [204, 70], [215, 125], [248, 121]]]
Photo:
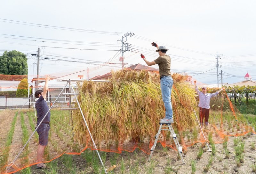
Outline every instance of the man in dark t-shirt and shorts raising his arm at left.
[[39, 135], [39, 145], [37, 148], [37, 157], [36, 157], [36, 163], [38, 163], [36, 165], [37, 169], [45, 168], [45, 165], [44, 163], [42, 163], [42, 161], [43, 161], [44, 149], [48, 144], [48, 135], [50, 130], [50, 116], [51, 116], [51, 113], [49, 111], [49, 106], [46, 103], [46, 93], [48, 91], [49, 80], [50, 80], [50, 76], [46, 75], [44, 90], [38, 90], [35, 92], [36, 112], [37, 112], [36, 132]]

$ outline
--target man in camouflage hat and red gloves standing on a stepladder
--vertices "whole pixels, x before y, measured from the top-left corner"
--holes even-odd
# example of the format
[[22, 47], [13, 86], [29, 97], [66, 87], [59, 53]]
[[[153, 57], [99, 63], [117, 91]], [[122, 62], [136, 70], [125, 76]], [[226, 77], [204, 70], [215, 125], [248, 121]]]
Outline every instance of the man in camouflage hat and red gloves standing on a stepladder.
[[160, 87], [165, 107], [165, 117], [160, 120], [160, 123], [173, 123], [171, 102], [173, 80], [170, 72], [171, 57], [166, 54], [168, 49], [165, 46], [158, 47], [155, 42], [152, 42], [151, 45], [157, 48], [156, 52], [158, 52], [159, 57], [152, 62], [147, 61], [143, 54], [140, 54], [140, 57], [147, 63], [148, 66], [158, 64]]

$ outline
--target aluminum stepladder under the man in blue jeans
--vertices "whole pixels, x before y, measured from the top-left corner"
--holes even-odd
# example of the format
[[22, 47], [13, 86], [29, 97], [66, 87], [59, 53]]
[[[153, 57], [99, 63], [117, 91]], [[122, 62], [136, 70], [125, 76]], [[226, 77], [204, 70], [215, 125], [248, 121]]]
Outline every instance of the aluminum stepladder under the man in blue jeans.
[[[178, 151], [178, 153], [179, 153], [179, 155], [180, 155], [180, 159], [181, 159], [181, 161], [182, 161], [182, 164], [185, 164], [185, 162], [184, 162], [184, 160], [183, 160], [183, 157], [185, 157], [185, 155], [184, 155], [183, 152], [182, 152], [182, 146], [180, 146], [180, 143], [179, 143], [179, 141], [178, 141], [178, 139], [177, 139], [177, 134], [175, 134], [175, 132], [174, 132], [174, 130], [173, 130], [173, 128], [172, 128], [172, 124], [171, 124], [171, 123], [161, 123], [161, 122], [160, 122], [159, 125], [160, 125], [160, 127], [159, 127], [158, 132], [157, 132], [157, 134], [156, 134], [156, 136], [155, 136], [156, 139], [155, 139], [154, 145], [153, 145], [152, 148], [150, 149], [151, 153], [150, 153], [150, 156], [149, 156], [149, 158], [148, 158], [148, 161], [150, 161], [151, 156], [152, 156], [152, 154], [153, 154], [153, 152], [154, 152], [154, 150], [155, 150], [155, 148], [156, 148], [156, 143], [157, 143], [157, 141], [158, 141], [158, 138], [159, 138], [159, 135], [160, 135], [161, 131], [167, 130], [167, 131], [170, 131], [170, 132], [171, 132], [172, 139], [173, 139], [173, 141], [174, 141], [174, 143], [175, 143], [175, 145], [176, 145], [176, 148], [177, 148], [177, 151]], [[167, 126], [163, 126], [163, 125], [167, 125]], [[167, 129], [167, 127], [168, 127], [168, 129]]]

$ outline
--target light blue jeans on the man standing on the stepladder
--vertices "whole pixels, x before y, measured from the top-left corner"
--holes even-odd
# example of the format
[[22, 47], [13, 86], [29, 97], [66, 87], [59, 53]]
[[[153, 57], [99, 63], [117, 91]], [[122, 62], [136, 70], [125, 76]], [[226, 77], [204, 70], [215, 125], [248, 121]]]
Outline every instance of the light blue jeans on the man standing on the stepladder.
[[164, 76], [160, 80], [160, 87], [161, 87], [162, 98], [163, 98], [164, 107], [165, 107], [166, 119], [172, 119], [172, 102], [171, 102], [172, 85], [173, 85], [173, 80], [171, 76]]

